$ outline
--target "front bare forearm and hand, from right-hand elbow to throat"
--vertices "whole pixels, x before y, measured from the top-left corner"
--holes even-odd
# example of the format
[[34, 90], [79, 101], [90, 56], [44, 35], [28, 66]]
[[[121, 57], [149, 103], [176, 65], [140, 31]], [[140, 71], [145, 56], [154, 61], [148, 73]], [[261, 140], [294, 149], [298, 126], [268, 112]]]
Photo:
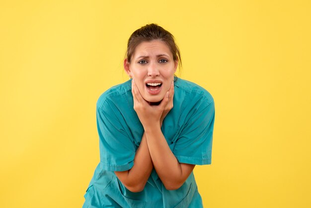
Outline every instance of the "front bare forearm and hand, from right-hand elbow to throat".
[[156, 172], [167, 190], [178, 189], [191, 174], [195, 165], [178, 162], [160, 129], [164, 117], [173, 107], [173, 83], [159, 105], [148, 104], [142, 98], [134, 82], [132, 83], [132, 93], [134, 109], [144, 126], [149, 152]]

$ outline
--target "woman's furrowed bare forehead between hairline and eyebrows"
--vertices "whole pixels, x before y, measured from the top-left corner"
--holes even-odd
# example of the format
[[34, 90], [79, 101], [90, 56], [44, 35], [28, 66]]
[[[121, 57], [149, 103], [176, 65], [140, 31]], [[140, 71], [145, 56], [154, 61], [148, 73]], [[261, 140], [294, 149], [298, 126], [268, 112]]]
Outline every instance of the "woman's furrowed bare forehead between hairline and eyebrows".
[[134, 57], [139, 56], [153, 56], [158, 54], [165, 54], [172, 57], [172, 53], [165, 42], [161, 40], [144, 41], [136, 46]]

